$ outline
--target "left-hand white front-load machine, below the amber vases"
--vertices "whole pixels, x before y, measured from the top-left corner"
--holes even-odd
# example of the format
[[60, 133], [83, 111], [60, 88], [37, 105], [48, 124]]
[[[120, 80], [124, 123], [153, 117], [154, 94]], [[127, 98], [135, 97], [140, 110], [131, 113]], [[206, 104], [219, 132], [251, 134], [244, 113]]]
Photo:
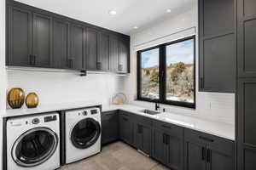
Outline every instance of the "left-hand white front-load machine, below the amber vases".
[[60, 167], [57, 113], [7, 120], [7, 169], [53, 170]]

